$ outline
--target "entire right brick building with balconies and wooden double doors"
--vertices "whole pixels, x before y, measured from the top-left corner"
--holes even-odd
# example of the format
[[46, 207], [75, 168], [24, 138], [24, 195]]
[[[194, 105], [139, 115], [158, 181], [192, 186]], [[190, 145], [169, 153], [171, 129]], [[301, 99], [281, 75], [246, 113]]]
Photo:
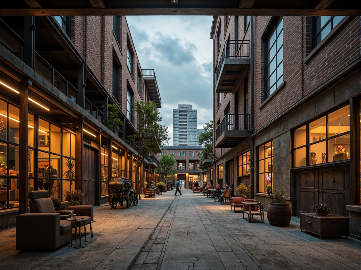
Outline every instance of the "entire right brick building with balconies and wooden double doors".
[[326, 203], [360, 220], [359, 33], [352, 16], [215, 16], [208, 180], [252, 184], [265, 208], [283, 186], [296, 216]]

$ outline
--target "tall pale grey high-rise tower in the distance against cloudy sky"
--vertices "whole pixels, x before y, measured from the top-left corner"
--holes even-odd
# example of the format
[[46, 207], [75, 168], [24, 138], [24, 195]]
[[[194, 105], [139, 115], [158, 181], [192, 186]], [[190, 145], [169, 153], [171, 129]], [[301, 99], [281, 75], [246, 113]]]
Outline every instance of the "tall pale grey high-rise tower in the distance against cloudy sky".
[[192, 105], [173, 109], [173, 145], [197, 145], [197, 110]]

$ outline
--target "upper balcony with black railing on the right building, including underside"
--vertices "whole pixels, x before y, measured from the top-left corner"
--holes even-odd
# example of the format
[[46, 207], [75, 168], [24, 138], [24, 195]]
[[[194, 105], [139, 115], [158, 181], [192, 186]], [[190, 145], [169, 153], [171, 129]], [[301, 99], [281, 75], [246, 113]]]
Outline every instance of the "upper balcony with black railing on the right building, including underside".
[[249, 40], [226, 40], [216, 71], [216, 92], [232, 92], [250, 65]]

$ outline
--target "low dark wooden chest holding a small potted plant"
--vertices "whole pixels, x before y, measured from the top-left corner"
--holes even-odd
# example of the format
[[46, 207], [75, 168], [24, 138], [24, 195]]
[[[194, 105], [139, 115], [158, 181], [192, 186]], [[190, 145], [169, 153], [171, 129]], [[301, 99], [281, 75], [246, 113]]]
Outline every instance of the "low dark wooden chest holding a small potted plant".
[[350, 235], [350, 218], [341, 215], [328, 214], [325, 216], [316, 213], [300, 214], [300, 229], [322, 236], [347, 236]]

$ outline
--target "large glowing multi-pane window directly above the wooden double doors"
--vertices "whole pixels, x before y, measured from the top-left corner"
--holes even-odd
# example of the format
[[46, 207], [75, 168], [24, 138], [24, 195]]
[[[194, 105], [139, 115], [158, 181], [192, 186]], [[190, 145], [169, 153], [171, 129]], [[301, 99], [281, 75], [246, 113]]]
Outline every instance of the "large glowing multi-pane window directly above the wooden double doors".
[[293, 138], [294, 167], [350, 158], [349, 105], [299, 127]]

